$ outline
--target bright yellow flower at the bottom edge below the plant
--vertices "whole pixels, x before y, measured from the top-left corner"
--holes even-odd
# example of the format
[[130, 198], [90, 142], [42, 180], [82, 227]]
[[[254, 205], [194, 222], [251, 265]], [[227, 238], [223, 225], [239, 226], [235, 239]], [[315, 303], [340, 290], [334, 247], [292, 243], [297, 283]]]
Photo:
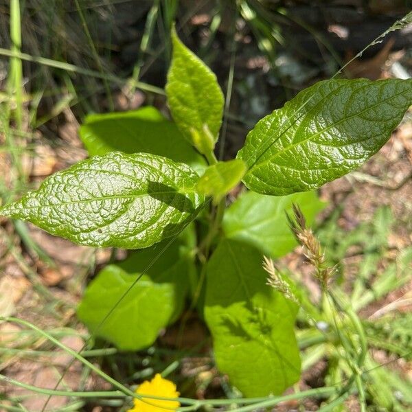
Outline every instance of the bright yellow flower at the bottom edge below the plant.
[[[176, 385], [170, 380], [163, 379], [160, 374], [156, 374], [155, 378], [145, 380], [136, 389], [136, 393], [140, 395], [161, 396], [163, 398], [178, 398], [180, 393], [176, 391]], [[135, 405], [128, 412], [168, 412], [176, 410], [180, 407], [180, 402], [177, 400], [157, 400], [152, 398], [134, 399]]]

